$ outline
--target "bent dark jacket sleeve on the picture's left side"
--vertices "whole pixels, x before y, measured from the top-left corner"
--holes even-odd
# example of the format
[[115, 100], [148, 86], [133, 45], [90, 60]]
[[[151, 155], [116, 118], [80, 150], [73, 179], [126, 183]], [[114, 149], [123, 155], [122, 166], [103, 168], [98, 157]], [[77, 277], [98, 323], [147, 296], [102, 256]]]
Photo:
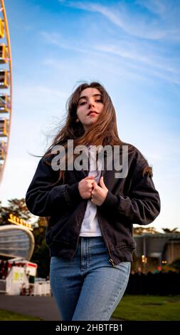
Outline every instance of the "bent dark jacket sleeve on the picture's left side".
[[33, 215], [48, 217], [80, 202], [78, 182], [73, 185], [53, 185], [54, 174], [51, 165], [41, 158], [26, 192], [26, 206]]

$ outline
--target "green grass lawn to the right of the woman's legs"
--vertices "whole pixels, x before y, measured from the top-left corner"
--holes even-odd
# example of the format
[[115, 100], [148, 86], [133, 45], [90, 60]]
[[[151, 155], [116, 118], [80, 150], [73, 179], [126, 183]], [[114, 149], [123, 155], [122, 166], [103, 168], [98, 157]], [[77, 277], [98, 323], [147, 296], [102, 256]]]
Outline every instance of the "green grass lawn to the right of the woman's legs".
[[180, 296], [125, 294], [112, 316], [129, 321], [180, 321]]

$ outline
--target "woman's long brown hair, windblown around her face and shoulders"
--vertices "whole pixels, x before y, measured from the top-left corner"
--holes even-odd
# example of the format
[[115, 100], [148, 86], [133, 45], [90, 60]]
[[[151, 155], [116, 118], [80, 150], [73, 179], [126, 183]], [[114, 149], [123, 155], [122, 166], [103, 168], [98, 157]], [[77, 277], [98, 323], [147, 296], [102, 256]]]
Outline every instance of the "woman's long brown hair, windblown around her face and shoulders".
[[[95, 125], [90, 127], [87, 133], [85, 133], [82, 123], [76, 122], [78, 100], [80, 98], [80, 93], [85, 90], [85, 88], [97, 88], [102, 95], [102, 103], [104, 104], [100, 118], [97, 119]], [[55, 145], [61, 144], [67, 149], [68, 140], [73, 140], [74, 147], [77, 145], [88, 144], [102, 145], [103, 147], [105, 145], [122, 145], [122, 140], [120, 140], [117, 132], [115, 108], [109, 94], [100, 83], [92, 82], [80, 84], [68, 98], [66, 110], [68, 115], [65, 120], [65, 125], [61, 128], [58, 134], [55, 135], [53, 143], [50, 145], [43, 158], [52, 155], [52, 149]], [[77, 155], [74, 155], [74, 159], [75, 157], [77, 157]], [[62, 175], [62, 172], [60, 174]]]

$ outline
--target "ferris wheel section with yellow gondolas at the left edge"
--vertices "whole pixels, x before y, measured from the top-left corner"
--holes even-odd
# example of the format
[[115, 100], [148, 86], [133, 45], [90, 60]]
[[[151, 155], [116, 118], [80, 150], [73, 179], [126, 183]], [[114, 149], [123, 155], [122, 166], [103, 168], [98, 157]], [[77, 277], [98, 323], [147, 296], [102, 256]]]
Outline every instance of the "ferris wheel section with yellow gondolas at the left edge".
[[4, 0], [0, 0], [0, 182], [9, 148], [12, 106], [11, 45]]

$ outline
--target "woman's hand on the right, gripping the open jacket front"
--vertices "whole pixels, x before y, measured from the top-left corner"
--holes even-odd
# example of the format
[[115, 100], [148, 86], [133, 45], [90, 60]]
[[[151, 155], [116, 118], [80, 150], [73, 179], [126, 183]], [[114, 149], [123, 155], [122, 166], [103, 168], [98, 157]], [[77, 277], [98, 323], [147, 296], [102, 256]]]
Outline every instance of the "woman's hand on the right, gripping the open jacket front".
[[97, 185], [97, 182], [93, 182], [92, 187], [91, 202], [92, 204], [100, 206], [105, 201], [108, 192], [108, 188], [105, 186], [103, 177], [100, 177], [100, 186]]

